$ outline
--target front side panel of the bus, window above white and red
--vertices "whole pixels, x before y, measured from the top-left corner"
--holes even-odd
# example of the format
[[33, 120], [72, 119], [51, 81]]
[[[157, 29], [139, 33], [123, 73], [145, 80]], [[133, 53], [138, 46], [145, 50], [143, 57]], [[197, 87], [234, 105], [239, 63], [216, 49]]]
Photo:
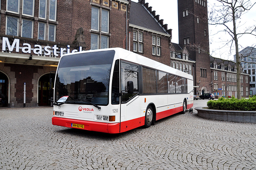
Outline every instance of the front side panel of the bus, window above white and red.
[[[121, 62], [121, 120], [120, 132], [140, 127], [141, 103], [138, 95], [138, 65]], [[127, 82], [132, 81], [134, 92], [128, 94]]]

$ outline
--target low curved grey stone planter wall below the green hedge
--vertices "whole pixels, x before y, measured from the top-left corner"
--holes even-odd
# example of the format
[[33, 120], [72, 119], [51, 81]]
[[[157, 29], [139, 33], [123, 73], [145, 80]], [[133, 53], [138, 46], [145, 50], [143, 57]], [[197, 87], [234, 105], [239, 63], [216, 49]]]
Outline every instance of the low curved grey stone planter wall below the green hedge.
[[197, 115], [218, 121], [256, 123], [256, 111], [222, 111], [196, 107]]

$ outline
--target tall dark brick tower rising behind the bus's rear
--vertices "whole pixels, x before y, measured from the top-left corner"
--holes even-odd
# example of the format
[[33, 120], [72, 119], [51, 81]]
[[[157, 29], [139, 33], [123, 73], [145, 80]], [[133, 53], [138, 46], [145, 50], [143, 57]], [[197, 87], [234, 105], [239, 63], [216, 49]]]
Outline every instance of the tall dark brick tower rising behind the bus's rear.
[[194, 64], [194, 94], [212, 93], [207, 0], [178, 0], [179, 44]]

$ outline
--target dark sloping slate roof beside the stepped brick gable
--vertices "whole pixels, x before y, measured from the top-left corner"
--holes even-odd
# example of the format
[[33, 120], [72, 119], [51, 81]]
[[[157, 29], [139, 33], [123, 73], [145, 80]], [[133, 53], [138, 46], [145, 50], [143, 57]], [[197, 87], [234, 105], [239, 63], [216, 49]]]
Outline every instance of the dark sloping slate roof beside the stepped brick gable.
[[131, 2], [129, 24], [168, 34], [152, 14], [142, 4], [137, 2]]

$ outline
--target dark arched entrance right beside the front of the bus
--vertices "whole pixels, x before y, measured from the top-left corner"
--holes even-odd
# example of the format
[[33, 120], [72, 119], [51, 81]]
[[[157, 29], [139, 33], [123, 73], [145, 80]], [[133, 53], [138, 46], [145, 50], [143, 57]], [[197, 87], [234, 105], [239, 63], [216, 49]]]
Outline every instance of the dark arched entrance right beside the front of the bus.
[[[48, 73], [42, 75], [38, 81], [38, 105], [39, 106], [50, 106], [51, 103], [49, 99], [53, 97], [53, 89], [54, 87], [54, 73]], [[52, 86], [50, 87], [50, 78], [52, 78]]]

